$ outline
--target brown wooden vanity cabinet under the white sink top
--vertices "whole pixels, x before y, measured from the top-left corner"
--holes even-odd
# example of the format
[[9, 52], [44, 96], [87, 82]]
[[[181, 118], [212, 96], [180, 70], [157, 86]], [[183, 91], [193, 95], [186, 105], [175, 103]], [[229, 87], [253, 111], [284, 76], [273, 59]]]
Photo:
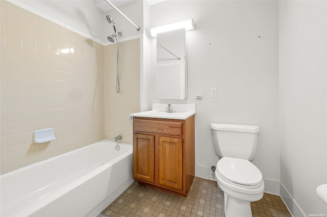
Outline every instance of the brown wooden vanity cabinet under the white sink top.
[[194, 115], [133, 117], [133, 178], [187, 197], [195, 175]]

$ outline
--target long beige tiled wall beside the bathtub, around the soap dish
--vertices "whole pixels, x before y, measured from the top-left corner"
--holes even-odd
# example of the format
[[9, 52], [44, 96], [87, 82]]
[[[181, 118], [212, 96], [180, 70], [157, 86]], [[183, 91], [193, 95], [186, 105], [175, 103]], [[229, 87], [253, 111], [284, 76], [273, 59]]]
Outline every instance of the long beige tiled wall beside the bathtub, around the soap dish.
[[[1, 174], [104, 138], [104, 45], [1, 3]], [[33, 142], [54, 128], [56, 140]]]

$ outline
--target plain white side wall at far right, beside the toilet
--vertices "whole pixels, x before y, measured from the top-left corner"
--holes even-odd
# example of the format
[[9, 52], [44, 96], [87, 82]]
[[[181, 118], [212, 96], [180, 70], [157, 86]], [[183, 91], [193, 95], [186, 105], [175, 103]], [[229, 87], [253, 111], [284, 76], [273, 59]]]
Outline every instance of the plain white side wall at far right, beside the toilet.
[[327, 3], [279, 3], [281, 196], [294, 216], [327, 214]]

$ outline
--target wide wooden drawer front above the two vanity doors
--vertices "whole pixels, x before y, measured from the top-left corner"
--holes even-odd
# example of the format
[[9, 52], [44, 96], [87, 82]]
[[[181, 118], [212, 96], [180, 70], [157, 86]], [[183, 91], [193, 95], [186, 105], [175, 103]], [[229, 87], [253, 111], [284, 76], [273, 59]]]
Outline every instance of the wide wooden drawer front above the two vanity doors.
[[166, 122], [161, 120], [144, 120], [134, 119], [134, 130], [162, 133], [170, 135], [182, 135], [182, 123], [181, 122]]

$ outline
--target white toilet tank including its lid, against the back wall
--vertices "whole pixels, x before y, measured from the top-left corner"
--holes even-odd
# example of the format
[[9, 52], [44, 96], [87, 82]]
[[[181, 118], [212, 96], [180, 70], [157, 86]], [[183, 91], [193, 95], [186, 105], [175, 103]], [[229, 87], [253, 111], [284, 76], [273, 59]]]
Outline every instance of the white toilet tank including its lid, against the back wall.
[[212, 123], [210, 127], [217, 155], [245, 160], [254, 158], [259, 126]]

